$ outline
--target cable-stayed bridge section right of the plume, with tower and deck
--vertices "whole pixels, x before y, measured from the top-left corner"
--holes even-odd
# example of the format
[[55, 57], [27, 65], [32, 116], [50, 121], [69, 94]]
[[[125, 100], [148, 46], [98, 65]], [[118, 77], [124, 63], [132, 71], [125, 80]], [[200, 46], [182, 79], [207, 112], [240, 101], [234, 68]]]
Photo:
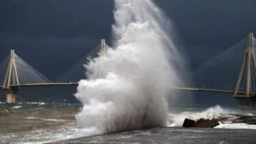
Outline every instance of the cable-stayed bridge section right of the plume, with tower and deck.
[[256, 108], [256, 39], [253, 33], [191, 72], [194, 78], [173, 89], [231, 93], [242, 109]]

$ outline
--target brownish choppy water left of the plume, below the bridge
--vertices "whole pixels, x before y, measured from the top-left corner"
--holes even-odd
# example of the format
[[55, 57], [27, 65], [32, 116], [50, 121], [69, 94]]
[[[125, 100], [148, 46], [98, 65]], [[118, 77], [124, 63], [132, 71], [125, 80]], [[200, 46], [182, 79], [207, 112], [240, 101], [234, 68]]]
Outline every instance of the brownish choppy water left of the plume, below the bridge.
[[43, 143], [78, 135], [78, 104], [0, 104], [1, 143]]

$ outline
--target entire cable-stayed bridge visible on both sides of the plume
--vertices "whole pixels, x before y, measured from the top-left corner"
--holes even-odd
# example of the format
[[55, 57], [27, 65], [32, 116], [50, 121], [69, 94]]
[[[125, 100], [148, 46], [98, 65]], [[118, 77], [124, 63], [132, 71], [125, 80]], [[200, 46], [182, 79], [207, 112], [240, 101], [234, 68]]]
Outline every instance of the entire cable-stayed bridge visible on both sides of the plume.
[[[85, 78], [83, 64], [87, 63], [88, 57], [103, 55], [105, 48], [107, 45], [101, 40], [99, 46], [94, 48], [89, 56], [83, 57], [55, 81], [46, 78], [11, 51], [10, 55], [0, 63], [0, 84], [3, 84], [0, 87], [8, 91], [6, 102], [15, 103], [16, 91], [20, 87], [78, 85], [77, 82]], [[244, 40], [193, 70], [190, 73], [193, 81], [179, 83], [171, 89], [231, 93], [240, 102], [242, 109], [255, 109], [255, 53], [256, 40], [253, 38], [253, 33], [249, 33]]]

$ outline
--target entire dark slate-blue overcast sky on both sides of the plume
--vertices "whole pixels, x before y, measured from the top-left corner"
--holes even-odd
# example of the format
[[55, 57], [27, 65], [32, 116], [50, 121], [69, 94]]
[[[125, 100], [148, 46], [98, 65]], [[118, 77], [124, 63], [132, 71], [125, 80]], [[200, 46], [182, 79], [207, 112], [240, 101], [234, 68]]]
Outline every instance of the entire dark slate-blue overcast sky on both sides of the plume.
[[[199, 64], [256, 33], [255, 0], [155, 0]], [[111, 40], [113, 0], [1, 0], [0, 61], [11, 48], [49, 78]]]

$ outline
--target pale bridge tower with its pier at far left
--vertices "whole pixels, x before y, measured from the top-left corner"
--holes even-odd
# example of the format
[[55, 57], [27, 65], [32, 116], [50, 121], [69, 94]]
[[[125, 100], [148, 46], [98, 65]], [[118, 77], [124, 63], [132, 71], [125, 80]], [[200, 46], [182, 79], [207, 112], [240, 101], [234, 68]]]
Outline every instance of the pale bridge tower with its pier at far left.
[[[12, 84], [11, 84], [12, 83]], [[10, 52], [10, 59], [8, 63], [8, 68], [5, 74], [5, 79], [3, 82], [3, 89], [6, 89], [6, 103], [7, 104], [15, 104], [16, 102], [16, 93], [19, 87], [10, 87], [10, 85], [20, 85], [20, 81], [18, 79], [18, 72], [15, 63], [15, 53], [14, 50]]]

